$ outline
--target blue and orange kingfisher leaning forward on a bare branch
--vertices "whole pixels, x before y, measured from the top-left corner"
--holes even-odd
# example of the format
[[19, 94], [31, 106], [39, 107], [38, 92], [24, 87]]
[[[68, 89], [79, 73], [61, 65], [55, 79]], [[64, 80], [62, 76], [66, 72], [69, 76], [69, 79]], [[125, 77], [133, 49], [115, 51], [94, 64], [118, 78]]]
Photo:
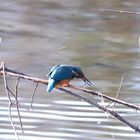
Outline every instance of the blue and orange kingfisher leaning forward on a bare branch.
[[74, 78], [80, 78], [89, 86], [92, 83], [84, 76], [80, 67], [69, 65], [56, 65], [48, 73], [47, 92], [51, 92], [54, 87], [69, 87], [69, 82]]

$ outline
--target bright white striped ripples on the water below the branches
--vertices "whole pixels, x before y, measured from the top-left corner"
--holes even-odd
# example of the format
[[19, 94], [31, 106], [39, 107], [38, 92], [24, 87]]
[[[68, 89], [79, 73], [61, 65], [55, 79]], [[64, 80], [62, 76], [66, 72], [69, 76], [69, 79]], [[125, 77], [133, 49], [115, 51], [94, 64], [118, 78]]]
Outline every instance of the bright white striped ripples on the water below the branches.
[[[26, 99], [24, 99], [26, 101]], [[6, 103], [7, 98], [0, 98], [0, 139], [15, 139]], [[3, 104], [4, 102], [4, 104]], [[30, 108], [30, 104], [23, 103], [22, 106]], [[22, 108], [20, 110], [24, 128], [24, 134], [21, 133], [17, 112], [12, 111], [13, 120], [18, 128], [20, 139], [123, 139], [140, 138], [139, 134], [117, 120], [88, 103], [73, 100], [52, 101], [51, 104], [34, 104], [33, 111]], [[117, 108], [116, 111], [122, 116], [132, 121], [133, 117], [138, 118], [137, 112], [132, 109]], [[128, 114], [127, 114], [128, 113]], [[136, 122], [135, 122], [136, 123]], [[108, 133], [110, 132], [111, 133]]]

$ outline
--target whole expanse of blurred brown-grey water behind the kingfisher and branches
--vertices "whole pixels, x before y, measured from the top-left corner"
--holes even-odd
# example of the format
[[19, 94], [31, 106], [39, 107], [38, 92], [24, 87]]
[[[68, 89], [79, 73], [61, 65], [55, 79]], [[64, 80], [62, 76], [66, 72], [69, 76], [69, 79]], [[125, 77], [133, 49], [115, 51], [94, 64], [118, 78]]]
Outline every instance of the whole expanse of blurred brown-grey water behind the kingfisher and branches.
[[[99, 11], [140, 11], [139, 7], [138, 0], [0, 0], [0, 61], [40, 78], [55, 64], [78, 65], [94, 90], [114, 97], [124, 75], [119, 98], [139, 104], [140, 15]], [[12, 89], [14, 82], [9, 81]], [[0, 83], [0, 140], [14, 140], [2, 78]], [[73, 84], [83, 86], [81, 81]], [[44, 85], [37, 90], [33, 111], [24, 109], [30, 108], [34, 84], [22, 81], [19, 86], [25, 131], [21, 134], [17, 126], [21, 140], [140, 139], [138, 133], [94, 106], [58, 90], [48, 94]], [[116, 110], [140, 125], [139, 112], [123, 106]], [[15, 109], [12, 114], [18, 125]]]

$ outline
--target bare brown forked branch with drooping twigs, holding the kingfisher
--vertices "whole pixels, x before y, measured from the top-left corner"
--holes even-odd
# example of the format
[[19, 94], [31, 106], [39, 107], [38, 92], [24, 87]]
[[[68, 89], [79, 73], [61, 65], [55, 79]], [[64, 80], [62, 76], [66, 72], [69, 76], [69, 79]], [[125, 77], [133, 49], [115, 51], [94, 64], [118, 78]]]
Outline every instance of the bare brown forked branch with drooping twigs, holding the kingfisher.
[[[34, 92], [33, 92], [33, 96], [32, 96], [32, 101], [31, 101], [31, 107], [32, 107], [32, 102], [33, 102], [33, 98], [34, 98], [34, 94], [35, 94], [35, 91], [38, 87], [38, 83], [42, 83], [42, 84], [48, 84], [48, 81], [47, 80], [44, 80], [44, 79], [40, 79], [40, 78], [35, 78], [35, 77], [31, 77], [31, 76], [28, 76], [26, 74], [23, 74], [23, 73], [20, 73], [20, 72], [17, 72], [17, 71], [14, 71], [14, 70], [11, 70], [11, 69], [8, 69], [8, 68], [0, 68], [0, 74], [3, 75], [4, 77], [4, 83], [5, 83], [5, 90], [6, 90], [6, 93], [9, 97], [9, 101], [10, 103], [12, 103], [11, 101], [11, 98], [10, 98], [10, 93], [9, 90], [8, 90], [8, 85], [6, 84], [6, 74], [9, 75], [9, 76], [14, 76], [14, 77], [18, 77], [18, 81], [16, 83], [16, 96], [12, 93], [12, 95], [15, 97], [15, 100], [16, 100], [16, 105], [19, 106], [19, 103], [18, 103], [18, 99], [17, 99], [17, 89], [18, 89], [18, 83], [19, 83], [19, 79], [23, 78], [23, 79], [26, 79], [26, 80], [31, 80], [33, 82], [36, 83], [35, 85], [35, 88], [34, 88]], [[104, 95], [104, 94], [101, 94], [101, 93], [98, 93], [98, 92], [95, 92], [95, 91], [92, 91], [92, 90], [88, 90], [88, 89], [83, 89], [83, 88], [78, 88], [78, 87], [75, 87], [75, 86], [70, 86], [70, 88], [72, 89], [75, 89], [75, 90], [78, 90], [78, 91], [81, 91], [81, 92], [85, 92], [85, 93], [88, 93], [88, 94], [92, 94], [92, 95], [96, 95], [96, 96], [99, 96], [103, 99], [107, 99], [109, 101], [113, 101], [113, 102], [116, 102], [116, 103], [119, 103], [119, 104], [122, 104], [122, 105], [125, 105], [127, 107], [131, 107], [133, 109], [136, 109], [136, 110], [140, 110], [140, 107], [139, 106], [136, 106], [134, 104], [131, 104], [131, 103], [128, 103], [128, 102], [125, 102], [125, 101], [122, 101], [122, 100], [119, 100], [119, 99], [115, 99], [113, 97], [110, 97], [110, 96], [107, 96], [107, 95]], [[79, 99], [82, 99], [83, 101], [85, 102], [88, 102], [89, 104], [91, 105], [94, 105], [96, 106], [97, 108], [99, 108], [100, 110], [106, 112], [106, 113], [109, 113], [111, 116], [117, 118], [118, 120], [120, 120], [121, 122], [125, 123], [126, 125], [128, 125], [129, 127], [131, 127], [132, 129], [134, 129], [135, 131], [139, 132], [140, 133], [140, 129], [139, 127], [135, 126], [134, 124], [131, 124], [130, 122], [128, 122], [127, 120], [125, 120], [123, 117], [121, 117], [117, 112], [115, 111], [111, 111], [110, 109], [107, 109], [105, 108], [104, 106], [101, 106], [99, 105], [95, 100], [89, 100], [85, 97], [82, 97], [81, 95], [78, 95], [78, 94], [75, 94], [74, 92], [71, 92], [67, 89], [64, 89], [64, 88], [61, 88], [61, 87], [57, 87], [57, 89], [65, 92], [65, 93], [68, 93], [74, 97], [77, 97]], [[17, 107], [17, 111], [19, 111], [19, 108]], [[11, 114], [11, 104], [10, 104], [10, 114]], [[11, 116], [11, 115], [10, 115]], [[22, 127], [22, 123], [21, 123], [21, 118], [20, 118], [20, 114], [18, 112], [18, 116], [19, 116], [19, 121], [20, 121], [20, 125]], [[11, 117], [11, 121], [12, 121], [12, 117]], [[13, 125], [13, 123], [12, 123]], [[14, 126], [14, 125], [13, 125]], [[16, 132], [16, 129], [15, 127], [13, 127], [15, 132]], [[17, 133], [16, 133], [17, 135]]]

